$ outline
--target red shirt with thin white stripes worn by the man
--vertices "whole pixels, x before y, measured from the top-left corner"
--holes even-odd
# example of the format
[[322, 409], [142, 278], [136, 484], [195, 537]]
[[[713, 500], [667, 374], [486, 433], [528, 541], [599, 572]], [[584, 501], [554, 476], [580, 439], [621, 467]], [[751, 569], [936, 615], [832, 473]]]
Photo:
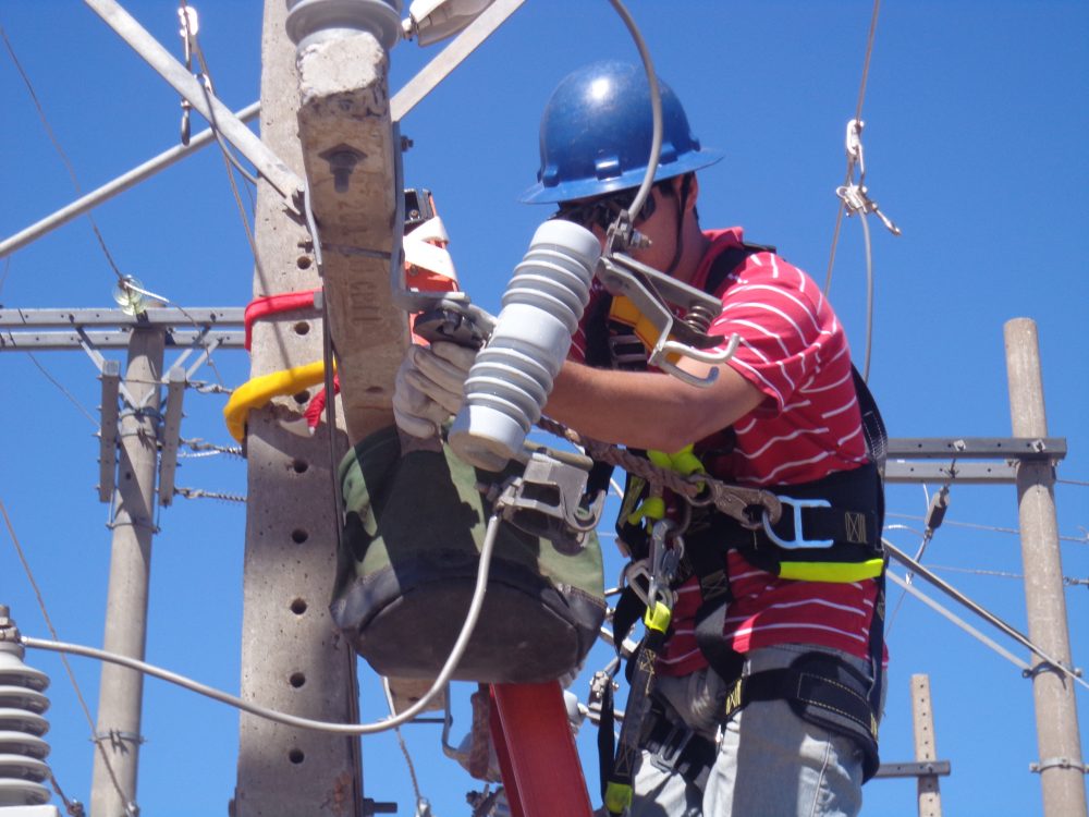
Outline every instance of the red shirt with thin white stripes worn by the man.
[[[709, 231], [711, 246], [692, 284], [702, 289], [714, 259], [742, 242], [739, 228]], [[764, 395], [734, 424], [736, 441], [709, 472], [727, 481], [784, 486], [820, 479], [866, 462], [861, 415], [843, 327], [820, 288], [805, 272], [769, 252], [750, 255], [719, 286], [722, 314], [710, 333], [739, 344], [727, 365]], [[575, 338], [582, 356], [585, 336]], [[711, 446], [713, 448], [713, 446]], [[696, 447], [697, 453], [700, 446]], [[738, 653], [778, 644], [815, 644], [868, 657], [877, 586], [778, 578], [729, 557], [734, 600], [725, 635]], [[659, 671], [682, 675], [706, 666], [693, 625], [700, 606], [696, 578], [677, 593], [673, 626]]]

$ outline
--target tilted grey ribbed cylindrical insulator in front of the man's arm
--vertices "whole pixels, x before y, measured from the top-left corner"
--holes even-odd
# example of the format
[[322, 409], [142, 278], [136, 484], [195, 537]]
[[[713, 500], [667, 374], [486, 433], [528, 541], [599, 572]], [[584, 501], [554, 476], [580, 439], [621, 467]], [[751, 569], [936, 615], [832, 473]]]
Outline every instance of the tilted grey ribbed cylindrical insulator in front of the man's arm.
[[500, 471], [540, 419], [590, 297], [601, 244], [570, 221], [546, 221], [514, 268], [495, 330], [465, 381], [450, 446], [466, 462]]

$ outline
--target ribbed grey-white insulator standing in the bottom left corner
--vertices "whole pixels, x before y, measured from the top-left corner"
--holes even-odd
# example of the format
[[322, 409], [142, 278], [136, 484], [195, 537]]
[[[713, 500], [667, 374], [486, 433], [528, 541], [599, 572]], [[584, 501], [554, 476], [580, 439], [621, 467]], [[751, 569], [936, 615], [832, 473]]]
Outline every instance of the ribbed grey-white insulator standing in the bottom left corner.
[[0, 812], [5, 813], [9, 806], [40, 806], [51, 796], [45, 785], [49, 744], [41, 737], [49, 730], [42, 717], [49, 676], [23, 662], [21, 647], [2, 646], [8, 647], [0, 650]]

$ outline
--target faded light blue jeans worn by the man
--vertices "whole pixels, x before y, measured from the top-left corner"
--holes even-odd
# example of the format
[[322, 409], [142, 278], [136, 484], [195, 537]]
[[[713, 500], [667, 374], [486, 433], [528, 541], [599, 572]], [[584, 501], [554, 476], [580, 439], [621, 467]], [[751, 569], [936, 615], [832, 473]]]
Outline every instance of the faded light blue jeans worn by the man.
[[[831, 653], [862, 670], [865, 661], [804, 644], [766, 647], [746, 656], [743, 672], [788, 666], [798, 655]], [[658, 676], [656, 695], [697, 733], [715, 740], [726, 688], [700, 670]], [[844, 735], [797, 717], [785, 700], [755, 702], [722, 729], [706, 791], [659, 769], [644, 752], [636, 769], [632, 817], [855, 817], [862, 805], [862, 755]]]

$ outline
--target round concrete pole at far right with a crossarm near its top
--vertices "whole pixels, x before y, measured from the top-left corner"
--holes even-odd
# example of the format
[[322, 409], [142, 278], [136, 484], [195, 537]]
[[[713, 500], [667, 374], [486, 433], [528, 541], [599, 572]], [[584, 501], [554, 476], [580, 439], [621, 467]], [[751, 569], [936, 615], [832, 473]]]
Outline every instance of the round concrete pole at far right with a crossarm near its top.
[[[1005, 327], [1010, 413], [1016, 437], [1048, 436], [1043, 378], [1036, 322], [1015, 318]], [[1055, 519], [1055, 472], [1049, 462], [1021, 461], [1017, 468], [1021, 559], [1029, 637], [1055, 660], [1072, 667], [1063, 565]], [[1081, 757], [1074, 684], [1038, 656], [1032, 693], [1040, 759], [1033, 771], [1043, 786], [1048, 817], [1085, 817], [1086, 767]]]

